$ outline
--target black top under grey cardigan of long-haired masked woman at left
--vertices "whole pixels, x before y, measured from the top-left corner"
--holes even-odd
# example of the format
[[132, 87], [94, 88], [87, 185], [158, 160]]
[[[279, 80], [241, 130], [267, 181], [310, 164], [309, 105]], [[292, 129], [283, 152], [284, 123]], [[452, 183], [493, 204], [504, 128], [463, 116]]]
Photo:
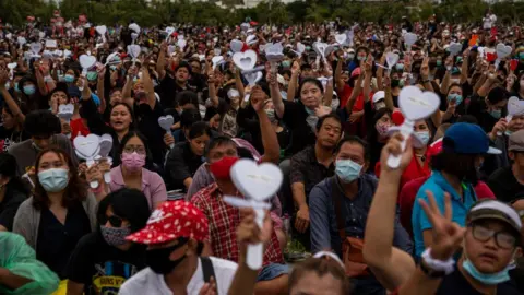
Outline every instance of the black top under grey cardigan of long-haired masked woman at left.
[[71, 205], [61, 224], [49, 209], [41, 210], [36, 246], [36, 259], [46, 263], [60, 279], [79, 240], [91, 233], [90, 219], [81, 202]]

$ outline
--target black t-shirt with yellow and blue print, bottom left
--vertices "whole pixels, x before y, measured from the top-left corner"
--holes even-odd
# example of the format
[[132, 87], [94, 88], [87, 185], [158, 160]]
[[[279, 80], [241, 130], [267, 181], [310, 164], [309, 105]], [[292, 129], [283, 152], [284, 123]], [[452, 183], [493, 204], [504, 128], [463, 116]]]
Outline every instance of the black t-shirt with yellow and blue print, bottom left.
[[107, 245], [99, 232], [84, 236], [69, 261], [69, 280], [84, 284], [85, 295], [117, 294], [120, 286], [145, 268], [145, 246], [127, 251]]

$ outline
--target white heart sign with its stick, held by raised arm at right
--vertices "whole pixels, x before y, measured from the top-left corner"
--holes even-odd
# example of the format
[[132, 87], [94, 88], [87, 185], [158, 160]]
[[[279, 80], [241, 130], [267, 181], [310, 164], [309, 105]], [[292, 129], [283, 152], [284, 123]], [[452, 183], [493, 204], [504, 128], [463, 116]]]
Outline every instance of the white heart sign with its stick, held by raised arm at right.
[[[398, 95], [398, 106], [404, 115], [404, 122], [401, 126], [401, 133], [404, 140], [401, 142], [402, 151], [406, 149], [406, 139], [414, 132], [416, 120], [421, 120], [431, 116], [439, 109], [440, 97], [433, 92], [421, 92], [417, 86], [406, 86], [402, 88]], [[397, 168], [401, 164], [402, 155], [388, 157], [388, 166]]]

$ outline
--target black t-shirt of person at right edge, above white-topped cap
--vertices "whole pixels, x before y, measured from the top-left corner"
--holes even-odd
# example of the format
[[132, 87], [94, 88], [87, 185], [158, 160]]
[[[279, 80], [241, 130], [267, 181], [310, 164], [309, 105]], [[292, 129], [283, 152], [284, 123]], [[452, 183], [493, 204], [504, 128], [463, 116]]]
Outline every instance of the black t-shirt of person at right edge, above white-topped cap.
[[503, 202], [511, 202], [517, 193], [524, 192], [524, 185], [516, 181], [511, 166], [502, 167], [496, 170], [488, 179], [488, 186], [493, 191], [495, 197]]

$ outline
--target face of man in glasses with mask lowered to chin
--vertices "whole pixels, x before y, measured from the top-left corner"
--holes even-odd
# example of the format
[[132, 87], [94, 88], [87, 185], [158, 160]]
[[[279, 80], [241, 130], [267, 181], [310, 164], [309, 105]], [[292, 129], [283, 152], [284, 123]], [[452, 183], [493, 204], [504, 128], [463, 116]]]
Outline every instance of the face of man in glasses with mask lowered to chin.
[[483, 220], [467, 227], [465, 253], [475, 268], [486, 274], [502, 271], [516, 250], [516, 237], [511, 227], [498, 220]]

